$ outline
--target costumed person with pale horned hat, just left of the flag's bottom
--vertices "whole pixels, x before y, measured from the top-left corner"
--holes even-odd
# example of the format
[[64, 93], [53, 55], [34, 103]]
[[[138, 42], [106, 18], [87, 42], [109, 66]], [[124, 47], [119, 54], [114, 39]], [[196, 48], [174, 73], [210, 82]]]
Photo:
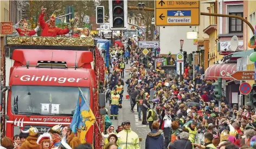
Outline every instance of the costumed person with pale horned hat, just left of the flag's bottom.
[[61, 144], [60, 132], [61, 132], [61, 125], [55, 125], [52, 128], [50, 128], [49, 134], [52, 137], [52, 141], [50, 144], [51, 148], [60, 146]]

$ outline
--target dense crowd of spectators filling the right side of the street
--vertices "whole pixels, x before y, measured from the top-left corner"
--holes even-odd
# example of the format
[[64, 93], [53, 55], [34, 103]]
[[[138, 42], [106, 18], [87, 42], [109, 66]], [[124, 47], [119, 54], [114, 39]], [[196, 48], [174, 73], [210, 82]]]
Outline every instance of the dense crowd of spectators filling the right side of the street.
[[[204, 78], [203, 66], [195, 66], [193, 79], [193, 66], [185, 65], [181, 81], [176, 76], [166, 77], [161, 67], [155, 69], [152, 62], [144, 63], [142, 51], [138, 48], [115, 48], [111, 52], [114, 69], [106, 87], [116, 90], [116, 84], [127, 85], [130, 111], [134, 112], [137, 105], [139, 121], [149, 125], [150, 132], [143, 138], [146, 139], [146, 149], [256, 148], [253, 108], [231, 106], [223, 96], [219, 109], [213, 92], [215, 80]], [[126, 68], [129, 78], [123, 81], [124, 60], [130, 67]], [[175, 65], [175, 61], [172, 63]], [[117, 92], [121, 108], [123, 89]], [[112, 93], [107, 96], [112, 100]], [[130, 144], [129, 141], [126, 143]]]

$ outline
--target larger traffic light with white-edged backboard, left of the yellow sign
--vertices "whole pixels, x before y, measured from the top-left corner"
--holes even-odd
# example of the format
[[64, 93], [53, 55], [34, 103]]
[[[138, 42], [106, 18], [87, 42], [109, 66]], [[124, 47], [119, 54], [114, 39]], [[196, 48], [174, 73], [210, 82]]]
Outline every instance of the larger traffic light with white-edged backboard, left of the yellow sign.
[[109, 0], [110, 29], [127, 30], [127, 0]]

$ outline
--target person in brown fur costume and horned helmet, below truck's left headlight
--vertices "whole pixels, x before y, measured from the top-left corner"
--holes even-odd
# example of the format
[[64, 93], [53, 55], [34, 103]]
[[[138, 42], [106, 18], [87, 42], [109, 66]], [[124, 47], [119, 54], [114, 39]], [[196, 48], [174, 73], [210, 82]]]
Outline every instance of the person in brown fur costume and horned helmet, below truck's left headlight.
[[39, 131], [37, 130], [36, 127], [30, 126], [29, 130], [23, 131], [21, 130], [22, 133], [28, 133], [28, 137], [25, 140], [25, 142], [21, 145], [22, 149], [36, 149], [40, 148], [40, 146], [36, 143], [37, 138], [39, 137]]

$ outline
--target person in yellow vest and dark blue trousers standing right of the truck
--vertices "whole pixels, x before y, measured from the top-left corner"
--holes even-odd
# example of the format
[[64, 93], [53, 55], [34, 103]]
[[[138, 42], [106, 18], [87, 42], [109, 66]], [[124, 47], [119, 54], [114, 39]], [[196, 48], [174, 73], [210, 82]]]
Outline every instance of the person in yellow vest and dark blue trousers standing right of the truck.
[[111, 99], [110, 99], [110, 119], [117, 119], [118, 116], [118, 108], [121, 106], [121, 99], [120, 95], [117, 93], [117, 88], [116, 86], [114, 87], [114, 92], [111, 94]]

